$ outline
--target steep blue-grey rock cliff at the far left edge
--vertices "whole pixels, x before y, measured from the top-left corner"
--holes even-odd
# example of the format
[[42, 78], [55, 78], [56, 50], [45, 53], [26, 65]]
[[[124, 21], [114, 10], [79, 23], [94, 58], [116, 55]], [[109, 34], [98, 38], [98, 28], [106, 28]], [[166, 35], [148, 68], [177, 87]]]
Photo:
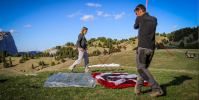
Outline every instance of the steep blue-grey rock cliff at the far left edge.
[[18, 53], [15, 41], [10, 32], [0, 32], [0, 51], [6, 50], [14, 55]]

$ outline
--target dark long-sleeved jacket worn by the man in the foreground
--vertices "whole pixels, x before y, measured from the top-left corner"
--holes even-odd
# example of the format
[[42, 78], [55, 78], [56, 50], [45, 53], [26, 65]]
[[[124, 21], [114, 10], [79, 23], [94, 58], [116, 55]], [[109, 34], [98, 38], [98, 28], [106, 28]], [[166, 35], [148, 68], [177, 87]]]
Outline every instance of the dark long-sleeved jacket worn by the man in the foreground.
[[136, 18], [134, 29], [138, 29], [138, 47], [155, 49], [155, 31], [157, 18], [148, 13]]

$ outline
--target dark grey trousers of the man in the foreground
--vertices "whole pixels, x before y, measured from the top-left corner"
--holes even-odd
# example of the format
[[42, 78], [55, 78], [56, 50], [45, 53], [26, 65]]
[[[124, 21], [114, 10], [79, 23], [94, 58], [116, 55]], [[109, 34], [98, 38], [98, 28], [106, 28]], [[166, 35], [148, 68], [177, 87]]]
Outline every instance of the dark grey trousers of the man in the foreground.
[[136, 83], [136, 90], [141, 90], [144, 80], [148, 82], [151, 86], [152, 91], [159, 91], [161, 90], [158, 83], [154, 80], [153, 76], [147, 69], [151, 63], [151, 60], [154, 55], [154, 50], [138, 47], [136, 52], [136, 65], [138, 70], [138, 78]]

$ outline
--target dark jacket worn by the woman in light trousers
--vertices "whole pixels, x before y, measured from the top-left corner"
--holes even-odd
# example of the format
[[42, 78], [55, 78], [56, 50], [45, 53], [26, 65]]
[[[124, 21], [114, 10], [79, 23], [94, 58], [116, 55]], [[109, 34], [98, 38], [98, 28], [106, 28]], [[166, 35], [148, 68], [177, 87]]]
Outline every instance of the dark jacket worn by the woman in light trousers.
[[87, 47], [87, 41], [86, 41], [86, 38], [85, 38], [85, 36], [84, 35], [82, 35], [81, 33], [79, 34], [79, 36], [78, 36], [78, 40], [77, 40], [77, 46], [79, 47], [79, 48], [84, 48], [84, 49], [86, 49], [86, 47]]

